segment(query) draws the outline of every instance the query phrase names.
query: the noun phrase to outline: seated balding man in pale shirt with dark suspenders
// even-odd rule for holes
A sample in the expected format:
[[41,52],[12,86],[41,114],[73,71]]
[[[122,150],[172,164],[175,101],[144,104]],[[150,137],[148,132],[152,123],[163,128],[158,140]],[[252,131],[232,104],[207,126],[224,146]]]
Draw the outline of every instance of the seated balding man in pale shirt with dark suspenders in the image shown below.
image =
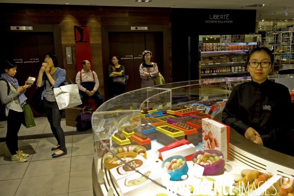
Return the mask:
[[83,69],[75,76],[79,95],[83,103],[87,98],[93,98],[98,108],[103,103],[103,98],[97,91],[99,87],[97,74],[94,71],[91,71],[91,64],[88,60],[84,60],[82,65]]

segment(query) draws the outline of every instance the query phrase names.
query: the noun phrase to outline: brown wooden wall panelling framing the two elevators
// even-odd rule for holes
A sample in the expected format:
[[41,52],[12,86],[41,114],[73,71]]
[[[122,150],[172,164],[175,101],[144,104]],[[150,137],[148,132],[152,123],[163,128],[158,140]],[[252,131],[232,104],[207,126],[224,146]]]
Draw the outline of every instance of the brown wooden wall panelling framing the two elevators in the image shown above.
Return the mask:
[[[73,25],[89,25],[92,55],[92,68],[98,74],[99,93],[104,98],[104,76],[102,65],[101,25],[169,25],[171,58],[171,9],[154,7],[113,7],[80,5],[46,5],[1,3],[1,24],[60,25],[64,68],[72,80],[75,80],[76,61]],[[72,47],[73,64],[67,65],[65,47]],[[172,82],[172,62],[169,73],[165,73],[166,82]]]

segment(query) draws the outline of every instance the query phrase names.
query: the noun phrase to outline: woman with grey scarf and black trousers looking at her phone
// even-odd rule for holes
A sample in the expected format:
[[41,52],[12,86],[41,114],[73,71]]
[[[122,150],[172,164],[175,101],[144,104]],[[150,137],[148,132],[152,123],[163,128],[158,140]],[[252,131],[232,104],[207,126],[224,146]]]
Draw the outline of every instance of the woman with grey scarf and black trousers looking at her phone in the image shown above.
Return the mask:
[[17,64],[13,60],[5,60],[1,63],[0,77],[0,98],[5,104],[5,115],[7,116],[6,145],[11,154],[11,162],[26,162],[29,154],[18,148],[18,132],[22,123],[25,124],[23,106],[26,104],[25,90],[30,87],[30,83],[25,82],[25,86],[19,86],[15,78]]

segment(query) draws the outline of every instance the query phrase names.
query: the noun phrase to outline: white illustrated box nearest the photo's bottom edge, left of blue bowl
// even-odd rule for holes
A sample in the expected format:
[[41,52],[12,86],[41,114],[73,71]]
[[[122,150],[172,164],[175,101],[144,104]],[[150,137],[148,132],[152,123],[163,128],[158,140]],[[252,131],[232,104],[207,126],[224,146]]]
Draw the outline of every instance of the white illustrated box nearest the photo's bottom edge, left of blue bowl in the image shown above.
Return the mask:
[[[161,169],[161,168],[160,168]],[[152,180],[162,184],[161,172],[154,168],[148,167],[140,170]],[[125,178],[118,180],[118,185],[123,195],[125,196],[145,196],[148,193],[149,196],[160,193],[161,186],[153,183],[151,180],[141,175],[140,173],[133,173]]]

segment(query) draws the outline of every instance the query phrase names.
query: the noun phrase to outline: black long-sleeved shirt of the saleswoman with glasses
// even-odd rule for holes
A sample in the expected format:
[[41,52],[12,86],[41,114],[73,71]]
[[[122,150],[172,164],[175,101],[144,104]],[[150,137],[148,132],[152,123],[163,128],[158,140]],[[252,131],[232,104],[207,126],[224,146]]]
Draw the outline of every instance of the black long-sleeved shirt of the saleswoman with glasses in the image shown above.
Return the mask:
[[[270,110],[264,106],[270,106]],[[289,132],[293,120],[288,88],[268,79],[261,84],[250,81],[235,86],[222,112],[222,123],[243,136],[252,127],[260,134],[265,147],[283,153],[287,153],[283,149],[285,143],[292,146]]]

